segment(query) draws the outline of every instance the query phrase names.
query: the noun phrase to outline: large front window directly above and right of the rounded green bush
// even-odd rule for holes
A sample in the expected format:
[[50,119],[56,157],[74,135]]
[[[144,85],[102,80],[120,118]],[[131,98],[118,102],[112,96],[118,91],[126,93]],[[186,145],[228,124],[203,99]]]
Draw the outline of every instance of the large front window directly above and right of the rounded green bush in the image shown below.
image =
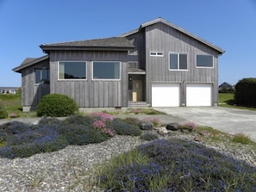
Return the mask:
[[86,62],[59,62],[59,79],[86,79]]

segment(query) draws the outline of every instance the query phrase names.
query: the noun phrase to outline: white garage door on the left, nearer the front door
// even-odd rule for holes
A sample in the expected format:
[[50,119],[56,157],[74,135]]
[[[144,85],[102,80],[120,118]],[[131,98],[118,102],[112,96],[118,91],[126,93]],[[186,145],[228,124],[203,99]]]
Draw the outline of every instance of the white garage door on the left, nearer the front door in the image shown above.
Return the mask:
[[179,84],[152,84],[152,107],[178,107]]

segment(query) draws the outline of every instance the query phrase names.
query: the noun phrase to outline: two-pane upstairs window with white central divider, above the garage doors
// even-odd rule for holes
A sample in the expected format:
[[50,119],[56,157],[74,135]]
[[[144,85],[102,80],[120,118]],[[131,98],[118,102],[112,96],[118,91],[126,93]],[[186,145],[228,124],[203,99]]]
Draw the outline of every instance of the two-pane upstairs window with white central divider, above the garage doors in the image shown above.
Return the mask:
[[170,53],[170,70],[187,70],[187,54]]

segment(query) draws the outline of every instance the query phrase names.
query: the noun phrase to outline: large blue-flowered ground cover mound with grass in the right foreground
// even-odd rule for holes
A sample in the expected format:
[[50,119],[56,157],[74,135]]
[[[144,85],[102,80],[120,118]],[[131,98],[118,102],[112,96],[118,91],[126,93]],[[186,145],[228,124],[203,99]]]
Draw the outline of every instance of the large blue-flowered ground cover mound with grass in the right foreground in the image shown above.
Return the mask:
[[184,139],[157,139],[97,170],[109,191],[255,191],[256,168]]

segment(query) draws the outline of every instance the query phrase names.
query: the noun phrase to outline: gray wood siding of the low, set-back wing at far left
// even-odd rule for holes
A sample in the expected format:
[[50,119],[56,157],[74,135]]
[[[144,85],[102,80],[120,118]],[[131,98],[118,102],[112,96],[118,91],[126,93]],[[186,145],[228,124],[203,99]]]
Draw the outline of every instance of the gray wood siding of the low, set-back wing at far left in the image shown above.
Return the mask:
[[34,69],[49,68],[49,59],[22,70],[22,106],[35,108],[50,93],[49,84],[35,84]]

